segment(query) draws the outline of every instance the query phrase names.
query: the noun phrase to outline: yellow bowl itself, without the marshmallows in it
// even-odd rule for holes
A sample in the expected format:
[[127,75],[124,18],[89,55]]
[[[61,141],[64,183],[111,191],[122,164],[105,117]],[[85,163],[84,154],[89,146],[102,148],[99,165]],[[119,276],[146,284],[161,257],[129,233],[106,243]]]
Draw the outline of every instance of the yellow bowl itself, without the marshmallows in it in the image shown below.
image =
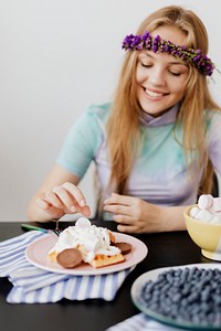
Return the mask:
[[192,218],[189,212],[193,206],[196,205],[190,205],[185,210],[185,222],[190,237],[201,248],[203,256],[221,260],[221,224]]

